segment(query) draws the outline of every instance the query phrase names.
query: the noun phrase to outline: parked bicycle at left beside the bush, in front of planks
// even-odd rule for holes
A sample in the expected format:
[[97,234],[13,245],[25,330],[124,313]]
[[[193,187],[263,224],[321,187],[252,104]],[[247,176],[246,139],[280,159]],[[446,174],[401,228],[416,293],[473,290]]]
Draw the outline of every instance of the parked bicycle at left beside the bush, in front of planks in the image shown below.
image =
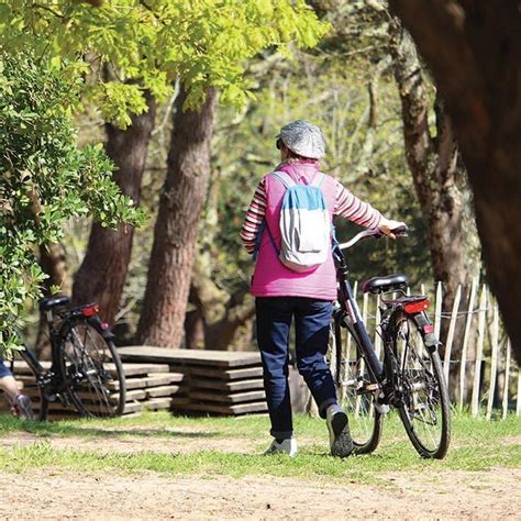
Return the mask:
[[51,340],[51,368],[46,369],[25,345],[20,356],[33,372],[40,393],[38,419],[45,421],[49,403],[74,406],[89,418],[115,417],[125,404],[125,377],[113,335],[95,303],[67,309],[68,297],[40,301]]

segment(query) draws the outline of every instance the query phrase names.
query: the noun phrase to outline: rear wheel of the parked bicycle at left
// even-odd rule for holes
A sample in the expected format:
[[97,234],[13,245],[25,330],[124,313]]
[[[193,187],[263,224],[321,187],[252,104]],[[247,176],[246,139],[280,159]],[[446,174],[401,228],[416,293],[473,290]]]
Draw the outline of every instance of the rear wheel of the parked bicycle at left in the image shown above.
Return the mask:
[[92,418],[121,414],[125,379],[113,342],[84,319],[70,321],[62,337],[62,370],[78,412]]

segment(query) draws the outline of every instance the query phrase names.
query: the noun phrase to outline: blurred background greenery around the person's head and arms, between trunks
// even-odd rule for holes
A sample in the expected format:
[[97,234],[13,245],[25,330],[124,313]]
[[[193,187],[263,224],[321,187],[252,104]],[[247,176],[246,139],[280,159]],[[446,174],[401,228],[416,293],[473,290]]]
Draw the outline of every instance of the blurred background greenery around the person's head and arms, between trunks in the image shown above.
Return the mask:
[[[328,48],[325,40],[318,49]],[[259,63],[259,67],[268,67]],[[213,278],[233,292],[247,285],[253,267],[237,233],[256,184],[279,162],[275,134],[288,121],[308,119],[326,138],[323,171],[333,175],[386,217],[402,220],[410,237],[366,241],[348,253],[353,280],[375,275],[407,274],[413,284],[430,278],[425,224],[402,148],[400,101],[392,78],[377,78],[376,126],[369,126],[367,85],[376,64],[333,59],[330,54],[296,53],[291,63],[263,69],[253,102],[244,118],[222,110],[214,132],[214,164],[220,171],[219,228]],[[220,130],[222,129],[222,130]],[[359,226],[335,220],[337,236],[354,235]],[[201,237],[207,225],[201,229]]]

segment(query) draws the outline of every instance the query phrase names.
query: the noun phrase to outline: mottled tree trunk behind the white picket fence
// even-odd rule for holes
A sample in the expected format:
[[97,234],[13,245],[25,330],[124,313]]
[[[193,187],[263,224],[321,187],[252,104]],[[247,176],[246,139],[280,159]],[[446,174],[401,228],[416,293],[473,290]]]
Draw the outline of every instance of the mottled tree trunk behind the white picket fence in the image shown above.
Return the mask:
[[[440,98],[435,101],[436,135],[429,129],[429,100],[422,79],[422,67],[414,43],[398,23],[392,23],[391,54],[395,79],[399,89],[406,158],[414,181],[421,208],[428,221],[432,270],[443,285],[442,308],[451,310],[458,285],[462,285],[462,310],[466,304],[465,290],[478,274],[476,253],[470,252],[468,215],[465,213],[465,171],[458,162],[457,143],[450,117]],[[447,335],[448,323],[442,322],[441,339]],[[458,324],[454,340],[457,358],[463,343],[464,323]],[[453,373],[455,374],[455,373]]]

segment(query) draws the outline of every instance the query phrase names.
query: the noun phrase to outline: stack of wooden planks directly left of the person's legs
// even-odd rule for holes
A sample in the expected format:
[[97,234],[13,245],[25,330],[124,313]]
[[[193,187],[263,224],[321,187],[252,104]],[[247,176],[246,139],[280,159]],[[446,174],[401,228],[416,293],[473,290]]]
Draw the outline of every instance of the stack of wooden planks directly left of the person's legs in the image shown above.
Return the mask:
[[267,410],[258,353],[148,346],[123,347],[119,352],[125,363],[168,364],[170,372],[185,375],[186,393],[174,397],[174,411],[239,415]]

